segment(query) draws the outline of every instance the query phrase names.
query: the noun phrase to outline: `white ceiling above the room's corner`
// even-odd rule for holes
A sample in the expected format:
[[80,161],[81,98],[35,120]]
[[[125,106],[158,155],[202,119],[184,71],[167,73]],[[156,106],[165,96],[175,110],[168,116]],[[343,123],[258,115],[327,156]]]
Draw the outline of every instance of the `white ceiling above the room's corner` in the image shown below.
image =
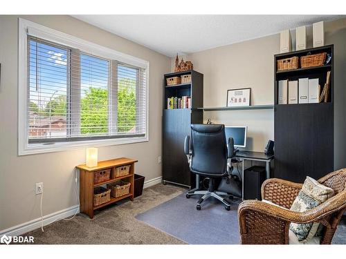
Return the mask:
[[104,30],[173,57],[281,30],[340,19],[343,15],[73,15]]

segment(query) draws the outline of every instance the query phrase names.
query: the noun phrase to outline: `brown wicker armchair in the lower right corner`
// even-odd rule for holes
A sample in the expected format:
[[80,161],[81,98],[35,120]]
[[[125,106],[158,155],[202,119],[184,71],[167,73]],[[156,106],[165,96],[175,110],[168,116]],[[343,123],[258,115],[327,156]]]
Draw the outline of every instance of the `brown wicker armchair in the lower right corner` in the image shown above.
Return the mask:
[[324,226],[320,244],[330,244],[346,209],[346,169],[329,173],[318,180],[334,189],[335,196],[305,212],[289,211],[302,184],[271,178],[262,184],[262,198],[239,204],[238,218],[242,244],[288,244],[289,224],[320,222]]

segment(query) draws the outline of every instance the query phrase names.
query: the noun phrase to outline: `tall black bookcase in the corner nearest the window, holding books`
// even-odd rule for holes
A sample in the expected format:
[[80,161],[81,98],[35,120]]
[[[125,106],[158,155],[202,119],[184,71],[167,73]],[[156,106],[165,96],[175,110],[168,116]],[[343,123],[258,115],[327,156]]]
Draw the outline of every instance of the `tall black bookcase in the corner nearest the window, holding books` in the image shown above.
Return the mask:
[[[191,75],[191,82],[167,86],[167,78]],[[163,78],[163,184],[172,183],[193,188],[194,175],[190,173],[183,144],[190,135],[191,124],[203,123],[203,74],[194,70],[165,74]],[[167,109],[169,97],[191,97],[191,108]]]

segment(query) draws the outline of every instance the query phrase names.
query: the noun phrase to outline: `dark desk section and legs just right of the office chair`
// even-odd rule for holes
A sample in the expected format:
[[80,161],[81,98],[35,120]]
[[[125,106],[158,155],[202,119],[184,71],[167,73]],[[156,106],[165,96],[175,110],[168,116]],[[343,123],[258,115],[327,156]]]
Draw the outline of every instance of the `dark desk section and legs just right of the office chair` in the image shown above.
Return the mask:
[[274,155],[266,155],[264,152],[238,151],[235,156],[242,160],[242,198],[244,198],[244,161],[261,161],[266,163],[266,179],[271,178],[271,160]]

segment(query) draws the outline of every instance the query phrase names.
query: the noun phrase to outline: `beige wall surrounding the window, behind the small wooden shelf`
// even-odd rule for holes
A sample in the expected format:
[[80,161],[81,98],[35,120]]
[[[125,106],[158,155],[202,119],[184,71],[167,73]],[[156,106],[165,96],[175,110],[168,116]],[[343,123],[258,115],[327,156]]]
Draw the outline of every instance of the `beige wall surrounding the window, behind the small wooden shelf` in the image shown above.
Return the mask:
[[[161,114],[163,74],[170,59],[69,16],[22,17],[120,52],[149,61],[149,142],[99,148],[99,159],[134,157],[145,180],[161,176]],[[85,162],[84,149],[17,155],[18,17],[0,16],[0,231],[39,217],[35,182],[44,182],[43,213],[78,204],[73,168]]]

